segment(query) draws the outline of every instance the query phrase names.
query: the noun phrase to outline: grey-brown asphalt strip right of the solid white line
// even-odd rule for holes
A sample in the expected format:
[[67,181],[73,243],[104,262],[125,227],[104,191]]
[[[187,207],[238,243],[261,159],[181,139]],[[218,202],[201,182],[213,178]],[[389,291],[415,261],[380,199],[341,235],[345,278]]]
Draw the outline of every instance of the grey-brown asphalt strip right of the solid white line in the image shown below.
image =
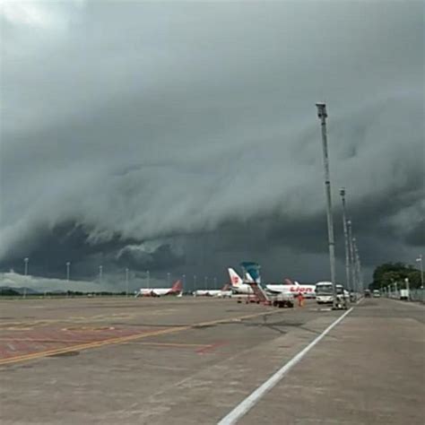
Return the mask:
[[425,423],[425,308],[364,299],[239,422]]

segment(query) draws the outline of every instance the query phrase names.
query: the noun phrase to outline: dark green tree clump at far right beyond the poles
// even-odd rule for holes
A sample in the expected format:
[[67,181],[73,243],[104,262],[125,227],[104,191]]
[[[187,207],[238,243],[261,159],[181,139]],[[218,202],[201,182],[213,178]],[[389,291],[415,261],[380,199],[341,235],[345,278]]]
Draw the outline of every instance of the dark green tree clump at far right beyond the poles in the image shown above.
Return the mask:
[[403,288],[404,279],[409,279],[411,289],[421,288],[421,271],[412,265],[404,263],[385,263],[378,265],[373,273],[373,282],[369,284],[370,290],[379,290],[389,284],[397,282],[399,288]]

